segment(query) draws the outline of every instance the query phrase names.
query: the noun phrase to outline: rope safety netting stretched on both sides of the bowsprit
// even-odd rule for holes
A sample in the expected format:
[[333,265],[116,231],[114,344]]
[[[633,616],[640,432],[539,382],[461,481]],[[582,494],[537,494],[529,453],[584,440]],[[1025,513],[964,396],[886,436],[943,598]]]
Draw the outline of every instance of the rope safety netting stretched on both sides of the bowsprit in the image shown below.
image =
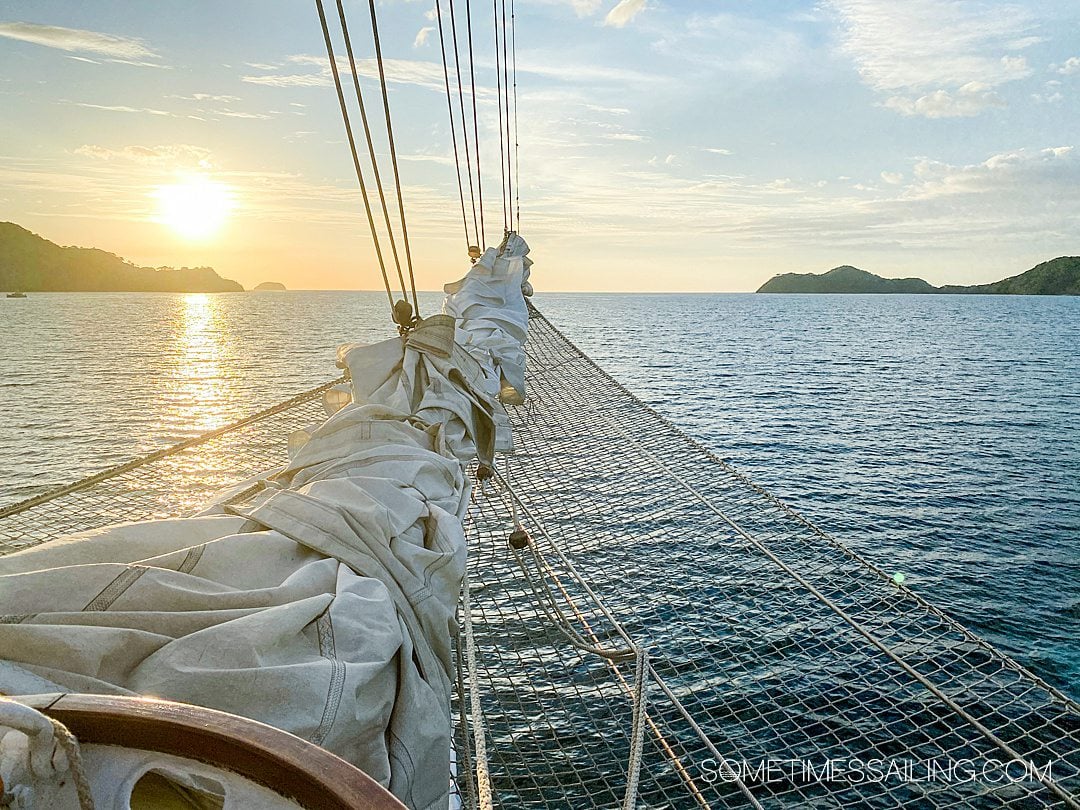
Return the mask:
[[[536,310],[529,326],[516,451],[467,524],[467,806],[474,696],[495,806],[623,805],[642,659],[588,645],[648,652],[639,807],[1080,808],[1080,705],[694,443]],[[325,388],[0,510],[0,551],[190,513],[284,461]]]

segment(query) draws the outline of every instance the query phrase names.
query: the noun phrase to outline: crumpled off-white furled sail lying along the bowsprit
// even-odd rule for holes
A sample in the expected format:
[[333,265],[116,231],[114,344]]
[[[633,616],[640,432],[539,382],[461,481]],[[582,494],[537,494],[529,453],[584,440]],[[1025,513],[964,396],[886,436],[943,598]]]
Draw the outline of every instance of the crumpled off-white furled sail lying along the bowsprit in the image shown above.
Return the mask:
[[500,392],[524,395],[527,252],[511,234],[448,285],[447,314],[342,347],[348,400],[330,389],[245,507],[0,558],[0,693],[230,712],[445,808],[465,469],[507,446]]

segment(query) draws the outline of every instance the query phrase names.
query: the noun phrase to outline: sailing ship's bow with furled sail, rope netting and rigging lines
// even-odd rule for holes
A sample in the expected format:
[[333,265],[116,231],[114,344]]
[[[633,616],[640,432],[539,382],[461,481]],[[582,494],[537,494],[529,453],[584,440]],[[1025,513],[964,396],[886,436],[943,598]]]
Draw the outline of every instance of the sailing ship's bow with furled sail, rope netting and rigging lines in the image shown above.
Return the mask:
[[422,313],[395,187],[396,335],[0,508],[6,804],[1080,807],[1080,706],[598,368],[512,206]]

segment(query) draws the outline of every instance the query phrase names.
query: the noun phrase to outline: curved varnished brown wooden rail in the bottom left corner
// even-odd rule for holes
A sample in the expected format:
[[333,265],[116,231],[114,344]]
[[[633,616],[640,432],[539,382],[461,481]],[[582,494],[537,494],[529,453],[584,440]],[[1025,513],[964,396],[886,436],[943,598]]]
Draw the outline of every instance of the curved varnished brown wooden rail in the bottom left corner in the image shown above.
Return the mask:
[[18,700],[63,723],[80,742],[194,759],[238,773],[310,810],[405,807],[340,757],[246,717],[187,703],[104,694]]

